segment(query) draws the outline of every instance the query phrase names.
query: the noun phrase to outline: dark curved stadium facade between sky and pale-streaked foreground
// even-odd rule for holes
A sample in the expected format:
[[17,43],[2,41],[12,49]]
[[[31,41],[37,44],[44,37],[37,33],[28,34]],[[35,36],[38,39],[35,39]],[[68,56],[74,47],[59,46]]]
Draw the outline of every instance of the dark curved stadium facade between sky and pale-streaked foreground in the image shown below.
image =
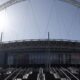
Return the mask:
[[0,65],[80,64],[80,42],[23,40],[0,44]]

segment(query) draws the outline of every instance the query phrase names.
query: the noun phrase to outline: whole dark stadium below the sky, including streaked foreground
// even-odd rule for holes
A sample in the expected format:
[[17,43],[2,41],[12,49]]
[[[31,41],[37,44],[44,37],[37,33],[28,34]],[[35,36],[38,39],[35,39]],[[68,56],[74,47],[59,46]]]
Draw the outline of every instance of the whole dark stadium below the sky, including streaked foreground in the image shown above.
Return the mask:
[[32,39],[0,44],[1,80],[79,80],[80,42]]

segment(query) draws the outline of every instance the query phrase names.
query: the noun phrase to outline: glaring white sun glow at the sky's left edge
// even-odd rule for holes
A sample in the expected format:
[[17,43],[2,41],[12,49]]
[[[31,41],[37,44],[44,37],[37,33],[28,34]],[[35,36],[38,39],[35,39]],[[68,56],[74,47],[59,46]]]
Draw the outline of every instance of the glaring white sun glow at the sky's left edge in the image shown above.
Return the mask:
[[0,33],[4,32],[4,30],[7,28],[8,26],[8,16],[6,14],[5,11],[1,11],[0,12]]

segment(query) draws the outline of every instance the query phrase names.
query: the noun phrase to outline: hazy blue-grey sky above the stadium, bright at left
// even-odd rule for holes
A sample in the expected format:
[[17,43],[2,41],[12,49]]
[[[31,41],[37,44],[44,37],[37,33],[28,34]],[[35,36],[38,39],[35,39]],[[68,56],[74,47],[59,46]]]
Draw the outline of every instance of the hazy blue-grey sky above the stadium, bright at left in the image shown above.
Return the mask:
[[[8,0],[0,0],[0,4]],[[80,40],[80,8],[60,0],[26,0],[0,11],[3,41]]]

